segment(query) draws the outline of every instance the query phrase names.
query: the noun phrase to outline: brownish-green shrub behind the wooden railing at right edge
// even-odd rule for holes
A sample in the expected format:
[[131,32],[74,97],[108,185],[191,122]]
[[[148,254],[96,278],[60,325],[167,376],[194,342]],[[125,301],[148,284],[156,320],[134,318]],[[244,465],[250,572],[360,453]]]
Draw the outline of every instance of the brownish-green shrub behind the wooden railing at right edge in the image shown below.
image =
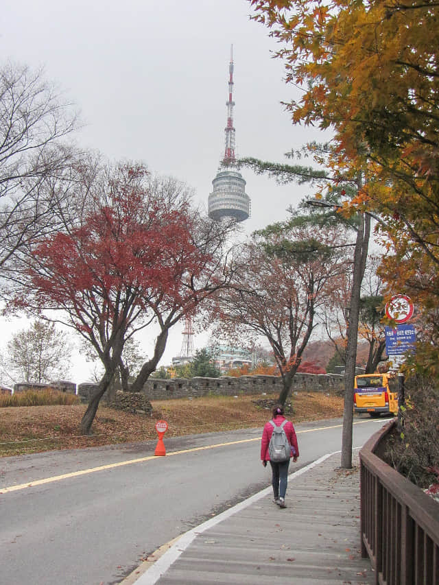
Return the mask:
[[413,377],[405,386],[401,433],[390,439],[386,459],[416,486],[435,481],[439,466],[439,387],[433,379]]

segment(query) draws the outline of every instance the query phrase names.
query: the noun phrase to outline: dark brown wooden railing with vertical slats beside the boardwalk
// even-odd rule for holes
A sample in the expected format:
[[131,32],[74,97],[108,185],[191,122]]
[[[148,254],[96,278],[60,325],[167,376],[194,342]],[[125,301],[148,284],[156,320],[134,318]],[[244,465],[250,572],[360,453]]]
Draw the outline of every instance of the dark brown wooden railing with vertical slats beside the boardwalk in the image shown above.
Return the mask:
[[361,556],[379,585],[439,585],[439,505],[375,455],[393,420],[361,449]]

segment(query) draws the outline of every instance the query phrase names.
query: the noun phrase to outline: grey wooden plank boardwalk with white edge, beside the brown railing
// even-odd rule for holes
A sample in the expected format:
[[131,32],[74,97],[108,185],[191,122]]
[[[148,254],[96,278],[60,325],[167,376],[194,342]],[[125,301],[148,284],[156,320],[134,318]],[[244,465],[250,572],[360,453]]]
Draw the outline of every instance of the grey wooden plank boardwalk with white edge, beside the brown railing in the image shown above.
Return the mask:
[[123,585],[372,585],[357,452],[353,470],[339,465],[340,453],[320,457],[289,475],[287,508],[266,488],[161,547]]

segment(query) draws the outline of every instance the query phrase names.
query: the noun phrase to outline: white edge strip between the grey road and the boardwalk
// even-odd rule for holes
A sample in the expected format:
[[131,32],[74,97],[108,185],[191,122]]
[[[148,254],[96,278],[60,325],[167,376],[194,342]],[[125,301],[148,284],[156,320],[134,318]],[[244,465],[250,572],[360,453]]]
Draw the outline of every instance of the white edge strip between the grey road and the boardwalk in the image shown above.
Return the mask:
[[[361,447],[353,447],[353,450],[355,449],[361,449]],[[313,461],[309,465],[302,467],[301,469],[290,474],[288,476],[288,481],[290,479],[298,477],[299,475],[307,473],[307,471],[309,471],[313,467],[316,467],[320,463],[323,463],[332,455],[337,455],[338,453],[341,452],[342,451],[333,451],[333,453],[327,453],[326,455],[322,455],[322,457],[319,457],[318,459],[316,459],[316,461]],[[243,502],[237,503],[236,505],[233,506],[233,508],[224,510],[224,512],[218,514],[217,516],[215,516],[215,518],[211,518],[210,520],[207,520],[206,522],[200,524],[199,526],[192,528],[188,532],[185,532],[185,534],[182,534],[182,536],[180,536],[180,538],[178,538],[178,540],[174,542],[174,544],[161,556],[161,558],[156,560],[156,562],[154,562],[154,564],[150,566],[150,568],[147,569],[145,573],[143,573],[143,575],[141,575],[139,579],[137,579],[134,582],[135,585],[154,585],[156,582],[158,582],[160,577],[162,577],[163,574],[169,569],[171,564],[173,564],[178,559],[181,553],[184,552],[187,549],[187,547],[189,547],[195,536],[202,534],[209,528],[217,525],[223,520],[226,520],[226,518],[230,518],[230,516],[233,516],[233,514],[241,512],[241,510],[245,510],[252,503],[257,502],[261,498],[270,494],[271,491],[272,486],[268,486],[268,488],[265,488],[261,490],[261,492],[258,492],[257,494],[250,496],[250,498],[244,500]]]

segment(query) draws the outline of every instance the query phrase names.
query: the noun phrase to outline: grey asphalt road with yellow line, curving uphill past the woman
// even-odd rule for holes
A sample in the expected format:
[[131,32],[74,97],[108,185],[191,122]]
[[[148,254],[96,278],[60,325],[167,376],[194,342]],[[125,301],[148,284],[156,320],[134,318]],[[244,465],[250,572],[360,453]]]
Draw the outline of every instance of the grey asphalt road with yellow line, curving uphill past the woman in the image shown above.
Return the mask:
[[[357,446],[383,424],[356,422]],[[297,425],[300,464],[340,449],[340,425]],[[165,438],[166,457],[154,457],[150,442],[1,459],[1,581],[121,582],[164,542],[268,485],[260,435],[246,429]]]

